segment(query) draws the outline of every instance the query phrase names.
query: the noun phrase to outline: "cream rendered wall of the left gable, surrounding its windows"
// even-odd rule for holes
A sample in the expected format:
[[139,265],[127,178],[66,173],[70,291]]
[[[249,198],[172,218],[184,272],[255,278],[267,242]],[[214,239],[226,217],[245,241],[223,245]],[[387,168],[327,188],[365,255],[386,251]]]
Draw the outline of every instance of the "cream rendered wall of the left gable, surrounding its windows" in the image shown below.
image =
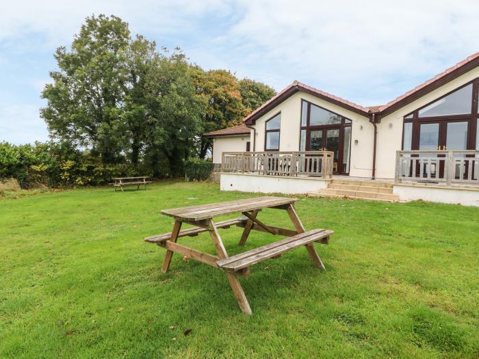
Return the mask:
[[[372,175],[372,144],[374,131],[372,124],[366,116],[361,116],[343,107],[324,101],[321,98],[296,92],[274,109],[268,111],[256,120],[255,150],[261,152],[265,148],[266,121],[281,112],[281,131],[279,134],[279,150],[298,151],[300,144],[301,129],[301,100],[309,101],[315,105],[324,107],[352,121],[351,135],[351,166],[350,176],[370,177]],[[357,141],[357,144],[356,144]],[[253,131],[251,133],[251,146],[253,146]],[[253,147],[252,147],[253,148]],[[394,172],[393,172],[394,175]]]

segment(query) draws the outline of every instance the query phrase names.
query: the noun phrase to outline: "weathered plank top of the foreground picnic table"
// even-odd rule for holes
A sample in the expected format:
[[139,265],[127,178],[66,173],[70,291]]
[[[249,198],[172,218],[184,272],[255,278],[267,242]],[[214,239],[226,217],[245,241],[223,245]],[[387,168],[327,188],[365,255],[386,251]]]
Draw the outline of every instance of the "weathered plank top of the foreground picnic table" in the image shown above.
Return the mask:
[[228,202],[201,204],[199,206],[164,209],[161,213],[178,220],[200,221],[218,217],[219,215],[230,215],[238,212],[253,211],[254,209],[281,206],[283,204],[296,202],[297,200],[298,198],[263,196]]

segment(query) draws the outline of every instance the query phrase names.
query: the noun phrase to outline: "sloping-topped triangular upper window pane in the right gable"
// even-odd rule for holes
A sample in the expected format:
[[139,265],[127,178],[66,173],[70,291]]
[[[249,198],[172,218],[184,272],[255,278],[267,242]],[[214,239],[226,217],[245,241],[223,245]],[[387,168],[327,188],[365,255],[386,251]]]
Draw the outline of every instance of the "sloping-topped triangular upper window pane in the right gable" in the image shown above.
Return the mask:
[[419,110],[419,117],[463,115],[471,113],[472,83]]

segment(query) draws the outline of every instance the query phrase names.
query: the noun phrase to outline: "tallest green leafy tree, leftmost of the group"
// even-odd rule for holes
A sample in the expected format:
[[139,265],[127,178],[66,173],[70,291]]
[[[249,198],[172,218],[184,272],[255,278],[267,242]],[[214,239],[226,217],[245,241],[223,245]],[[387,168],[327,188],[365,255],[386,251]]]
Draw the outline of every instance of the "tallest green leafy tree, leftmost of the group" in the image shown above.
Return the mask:
[[92,146],[103,163],[115,163],[125,148],[121,107],[127,91],[128,24],[116,16],[86,18],[71,45],[57,49],[60,70],[50,72],[40,110],[51,137]]

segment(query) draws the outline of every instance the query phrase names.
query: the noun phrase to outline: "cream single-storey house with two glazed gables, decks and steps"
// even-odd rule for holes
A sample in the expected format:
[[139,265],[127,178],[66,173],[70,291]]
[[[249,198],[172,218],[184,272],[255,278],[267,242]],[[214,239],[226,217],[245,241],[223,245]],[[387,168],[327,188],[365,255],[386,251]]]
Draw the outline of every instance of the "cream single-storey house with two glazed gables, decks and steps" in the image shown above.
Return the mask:
[[222,189],[479,206],[478,99],[476,53],[374,107],[294,81],[244,118],[241,140],[207,135]]

